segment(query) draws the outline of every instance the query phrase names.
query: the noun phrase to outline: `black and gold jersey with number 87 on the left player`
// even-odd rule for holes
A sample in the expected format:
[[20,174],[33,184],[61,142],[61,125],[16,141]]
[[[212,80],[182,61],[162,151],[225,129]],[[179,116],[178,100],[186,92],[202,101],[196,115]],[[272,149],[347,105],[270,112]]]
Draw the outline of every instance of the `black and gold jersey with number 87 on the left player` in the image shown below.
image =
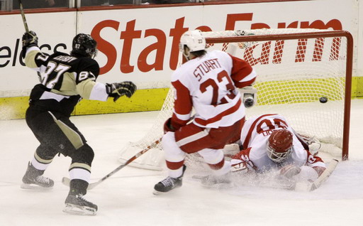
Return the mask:
[[28,48],[26,66],[38,71],[40,83],[30,93],[30,105],[69,116],[80,99],[106,101],[103,84],[96,82],[96,60],[67,53],[45,54],[38,47]]

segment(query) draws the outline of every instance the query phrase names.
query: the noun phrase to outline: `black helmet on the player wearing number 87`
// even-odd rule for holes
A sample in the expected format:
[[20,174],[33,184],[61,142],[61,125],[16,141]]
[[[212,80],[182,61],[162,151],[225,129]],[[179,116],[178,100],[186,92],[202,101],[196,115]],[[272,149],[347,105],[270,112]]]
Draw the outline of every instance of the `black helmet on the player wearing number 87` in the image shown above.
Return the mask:
[[79,33],[73,38],[71,55],[94,58],[97,55],[97,42],[90,35]]

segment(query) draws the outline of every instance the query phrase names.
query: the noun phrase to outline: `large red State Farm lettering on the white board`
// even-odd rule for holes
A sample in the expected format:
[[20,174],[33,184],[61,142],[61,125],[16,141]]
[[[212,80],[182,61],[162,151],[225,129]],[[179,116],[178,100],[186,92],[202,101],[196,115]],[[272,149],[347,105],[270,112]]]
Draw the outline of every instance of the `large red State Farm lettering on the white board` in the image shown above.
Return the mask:
[[[253,14],[245,13],[245,14],[227,14],[225,21],[225,30],[236,30],[236,23],[238,21],[251,21],[250,29],[259,29],[259,28],[274,28],[271,24],[267,23],[252,23]],[[116,59],[118,58],[118,54],[121,54],[120,61],[120,71],[127,74],[135,71],[135,65],[138,70],[141,72],[149,72],[151,70],[164,70],[164,60],[169,58],[169,68],[171,70],[175,70],[178,66],[179,59],[179,39],[181,35],[188,31],[189,28],[184,26],[185,17],[177,18],[174,23],[174,28],[170,28],[169,34],[167,31],[163,31],[157,28],[150,28],[145,30],[145,34],[143,36],[143,32],[141,30],[136,30],[135,25],[137,23],[136,20],[127,21],[125,31],[119,31],[120,23],[119,21],[113,20],[105,20],[97,23],[91,31],[91,36],[98,43],[98,48],[101,53],[106,55],[106,64],[102,66],[100,70],[100,75],[105,74],[112,70],[116,64]],[[101,31],[104,28],[113,28],[117,33],[115,36],[119,34],[119,38],[123,41],[122,48],[118,46],[118,43],[111,43],[106,41],[104,37],[101,37]],[[327,29],[333,28],[333,30],[342,30],[342,23],[337,19],[332,19],[327,23],[323,21],[293,21],[291,23],[279,22],[277,23],[277,28],[319,28],[319,29]],[[201,31],[212,31],[212,29],[208,26],[198,26],[196,29],[200,29]],[[142,37],[143,36],[143,37]],[[155,40],[154,43],[149,44],[142,48],[140,53],[135,53],[135,48],[133,48],[133,41],[135,39],[143,39],[145,40]],[[166,57],[166,50],[168,43],[171,46],[169,56]],[[306,40],[301,39],[298,41],[299,45],[296,48],[296,62],[302,62],[306,57]],[[336,50],[340,48],[341,40],[340,38],[335,38],[333,40],[333,44],[330,50],[330,60],[337,60],[339,57],[339,52]],[[324,46],[324,39],[320,38],[315,41],[315,49],[313,53],[313,61],[320,61],[322,58],[321,49]],[[284,52],[284,41],[276,41],[274,46],[272,46],[272,42],[262,43],[262,48],[264,48],[263,53],[260,55],[255,55],[254,50],[256,46],[251,46],[246,48],[245,50],[245,58],[250,57],[250,63],[255,65],[257,63],[268,64],[268,63],[281,63],[282,55]],[[333,51],[335,48],[335,51]],[[130,62],[130,55],[136,55],[137,62]],[[270,55],[270,53],[272,53]],[[269,60],[272,58],[272,60]],[[133,58],[134,59],[134,58]],[[270,62],[271,61],[271,62]]]

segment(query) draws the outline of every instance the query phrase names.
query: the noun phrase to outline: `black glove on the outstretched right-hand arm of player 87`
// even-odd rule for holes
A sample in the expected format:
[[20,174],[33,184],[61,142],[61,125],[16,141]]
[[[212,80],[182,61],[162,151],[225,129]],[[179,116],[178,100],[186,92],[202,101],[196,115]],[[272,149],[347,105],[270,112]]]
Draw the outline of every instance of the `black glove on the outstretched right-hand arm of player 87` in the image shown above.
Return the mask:
[[111,84],[106,83],[106,92],[108,97],[113,97],[114,102],[116,102],[116,100],[123,95],[126,95],[126,97],[130,98],[136,90],[136,85],[130,81],[115,82]]

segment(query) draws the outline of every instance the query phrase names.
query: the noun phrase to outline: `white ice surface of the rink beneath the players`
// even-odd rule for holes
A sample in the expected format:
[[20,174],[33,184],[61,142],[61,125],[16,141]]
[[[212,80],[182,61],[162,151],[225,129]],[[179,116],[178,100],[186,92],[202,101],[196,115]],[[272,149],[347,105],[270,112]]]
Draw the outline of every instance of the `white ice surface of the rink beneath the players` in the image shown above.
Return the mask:
[[[138,141],[158,112],[72,117],[94,149],[91,182],[120,166],[118,154]],[[313,192],[272,188],[204,188],[186,171],[183,186],[153,195],[164,171],[125,167],[84,196],[98,205],[95,216],[62,212],[70,158],[56,156],[45,176],[52,190],[23,190],[21,178],[38,141],[25,120],[0,121],[0,225],[363,225],[363,99],[352,99],[350,160],[340,161]],[[324,159],[324,158],[323,158]]]

